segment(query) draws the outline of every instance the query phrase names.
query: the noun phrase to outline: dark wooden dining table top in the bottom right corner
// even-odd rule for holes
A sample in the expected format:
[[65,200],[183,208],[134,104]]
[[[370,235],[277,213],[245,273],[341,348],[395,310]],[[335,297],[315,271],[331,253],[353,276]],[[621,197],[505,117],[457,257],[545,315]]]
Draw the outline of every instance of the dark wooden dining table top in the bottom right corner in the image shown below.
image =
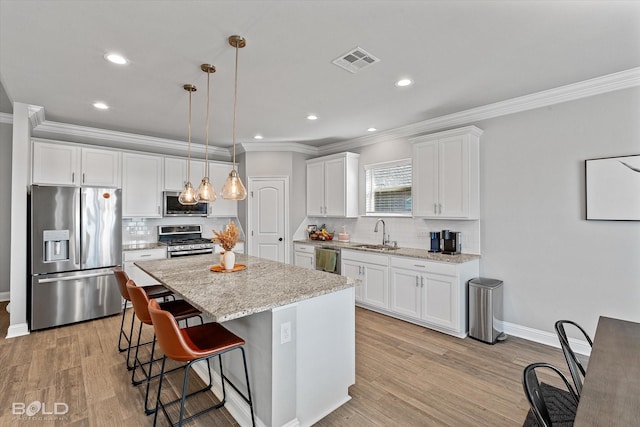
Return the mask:
[[640,425],[640,323],[601,316],[575,427]]

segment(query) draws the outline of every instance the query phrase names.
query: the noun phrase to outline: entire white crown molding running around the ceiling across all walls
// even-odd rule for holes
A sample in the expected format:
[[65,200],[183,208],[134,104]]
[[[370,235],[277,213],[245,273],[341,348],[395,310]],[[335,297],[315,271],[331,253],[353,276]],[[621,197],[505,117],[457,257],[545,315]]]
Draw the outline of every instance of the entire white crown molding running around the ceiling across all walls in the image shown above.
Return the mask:
[[[560,86],[530,95],[524,95],[506,101],[471,108],[399,128],[377,132],[373,135],[366,135],[359,138],[328,144],[322,147],[313,147],[297,142],[246,142],[238,145],[240,146],[240,152],[293,151],[313,156],[321,156],[340,151],[349,151],[382,141],[414,137],[431,132],[446,130],[447,128],[469,125],[482,120],[520,113],[563,102],[575,101],[635,86],[640,86],[640,67]],[[186,153],[187,151],[187,143],[185,141],[45,121],[43,107],[30,105],[29,119],[34,129],[34,136],[40,136],[42,138],[56,137],[65,140],[71,139],[76,142],[87,142],[87,140],[93,140],[94,143],[104,143],[107,146],[116,145],[132,150],[151,152]],[[0,122],[12,123],[13,116],[11,114],[0,113]],[[196,154],[204,154],[205,147],[202,144],[192,144],[191,151]],[[209,153],[215,157],[231,159],[231,147],[221,148],[209,146]]]

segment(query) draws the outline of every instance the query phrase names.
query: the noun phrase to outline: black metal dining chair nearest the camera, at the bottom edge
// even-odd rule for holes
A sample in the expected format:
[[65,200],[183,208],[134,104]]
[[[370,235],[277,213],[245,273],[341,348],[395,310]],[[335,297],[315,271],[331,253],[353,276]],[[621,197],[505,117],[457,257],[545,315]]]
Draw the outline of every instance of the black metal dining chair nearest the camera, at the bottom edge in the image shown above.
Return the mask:
[[[545,369],[560,377],[566,390],[541,383],[536,370]],[[524,368],[522,387],[531,405],[524,426],[564,427],[573,425],[578,409],[578,395],[558,368],[548,363],[532,363]]]

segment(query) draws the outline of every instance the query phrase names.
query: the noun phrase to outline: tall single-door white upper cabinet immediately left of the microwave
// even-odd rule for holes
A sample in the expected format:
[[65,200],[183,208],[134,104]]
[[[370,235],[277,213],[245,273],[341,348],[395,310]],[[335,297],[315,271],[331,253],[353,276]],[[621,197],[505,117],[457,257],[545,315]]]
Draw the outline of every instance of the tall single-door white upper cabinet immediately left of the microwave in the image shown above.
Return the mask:
[[122,155],[122,216],[162,217],[163,157],[148,154]]

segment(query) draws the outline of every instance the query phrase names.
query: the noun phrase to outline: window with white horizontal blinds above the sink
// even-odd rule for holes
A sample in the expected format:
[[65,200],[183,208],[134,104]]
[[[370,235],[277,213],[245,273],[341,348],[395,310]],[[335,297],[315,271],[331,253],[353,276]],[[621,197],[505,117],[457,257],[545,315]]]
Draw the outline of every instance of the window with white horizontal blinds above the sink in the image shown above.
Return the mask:
[[411,159],[364,167],[366,213],[411,215]]

